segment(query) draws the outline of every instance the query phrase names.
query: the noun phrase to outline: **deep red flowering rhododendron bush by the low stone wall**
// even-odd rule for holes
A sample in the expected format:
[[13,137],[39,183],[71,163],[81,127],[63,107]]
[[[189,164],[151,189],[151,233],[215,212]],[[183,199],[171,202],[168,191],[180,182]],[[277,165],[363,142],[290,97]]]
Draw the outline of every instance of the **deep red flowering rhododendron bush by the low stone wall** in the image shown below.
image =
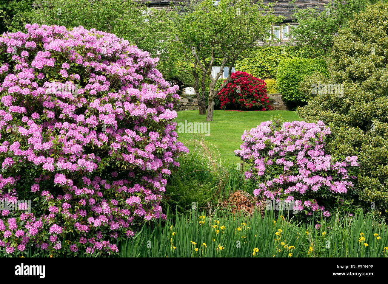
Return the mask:
[[217,95],[222,109],[272,110],[264,80],[246,72],[232,73],[230,82]]

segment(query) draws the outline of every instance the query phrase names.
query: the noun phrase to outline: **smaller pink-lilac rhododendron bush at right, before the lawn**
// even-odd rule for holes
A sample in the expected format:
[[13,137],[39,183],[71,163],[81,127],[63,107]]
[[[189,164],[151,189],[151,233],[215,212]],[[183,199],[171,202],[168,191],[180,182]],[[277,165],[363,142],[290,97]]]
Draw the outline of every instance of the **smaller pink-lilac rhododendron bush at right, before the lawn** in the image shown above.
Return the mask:
[[266,121],[244,131],[244,143],[234,152],[249,164],[244,175],[256,182],[258,205],[292,211],[302,219],[346,210],[355,194],[357,156],[341,160],[325,154],[329,134],[322,121]]

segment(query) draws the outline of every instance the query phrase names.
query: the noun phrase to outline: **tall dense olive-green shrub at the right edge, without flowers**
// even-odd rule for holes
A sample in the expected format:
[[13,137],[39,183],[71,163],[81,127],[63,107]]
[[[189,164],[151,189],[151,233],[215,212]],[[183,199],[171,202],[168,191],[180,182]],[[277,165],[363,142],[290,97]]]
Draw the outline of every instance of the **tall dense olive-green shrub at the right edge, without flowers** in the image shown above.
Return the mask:
[[[357,155],[355,184],[360,205],[388,216],[388,4],[376,3],[355,15],[334,37],[330,78],[310,76],[302,87],[310,93],[298,110],[308,121],[329,124],[331,155]],[[338,86],[342,91],[317,91],[312,86]],[[338,90],[338,88],[337,88]],[[356,203],[355,203],[356,204]]]

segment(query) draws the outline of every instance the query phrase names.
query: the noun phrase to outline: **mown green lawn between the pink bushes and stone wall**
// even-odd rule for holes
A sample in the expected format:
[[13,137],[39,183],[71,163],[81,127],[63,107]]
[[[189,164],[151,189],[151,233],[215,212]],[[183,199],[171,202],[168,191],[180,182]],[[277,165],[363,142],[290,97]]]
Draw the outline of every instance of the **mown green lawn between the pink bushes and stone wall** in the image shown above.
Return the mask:
[[[196,140],[205,138],[207,146],[212,145],[218,149],[221,160],[237,162],[239,159],[233,151],[240,148],[241,135],[244,130],[250,130],[263,121],[270,120],[272,115],[281,114],[288,121],[300,120],[296,112],[288,110],[268,110],[263,112],[234,112],[228,110],[215,110],[213,121],[210,122],[209,136],[203,133],[178,133],[179,141],[182,141],[190,151],[194,150]],[[206,122],[206,115],[199,115],[198,110],[186,110],[178,112],[176,121],[185,123]],[[178,125],[179,126],[179,125]],[[189,129],[189,128],[188,128]],[[179,130],[179,127],[178,127]],[[212,147],[214,149],[214,147]],[[215,150],[217,152],[217,150]],[[218,153],[217,153],[218,155]]]

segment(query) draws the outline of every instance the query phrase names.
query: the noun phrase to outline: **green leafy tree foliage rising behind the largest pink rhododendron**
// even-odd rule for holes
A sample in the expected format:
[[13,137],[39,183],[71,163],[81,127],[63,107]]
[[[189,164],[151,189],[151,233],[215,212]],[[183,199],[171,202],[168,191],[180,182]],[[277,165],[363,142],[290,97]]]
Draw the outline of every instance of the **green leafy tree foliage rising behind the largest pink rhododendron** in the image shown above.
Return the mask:
[[161,61],[171,57],[167,47],[173,36],[166,28],[168,14],[148,8],[145,1],[37,0],[34,5],[35,9],[14,17],[12,31],[22,29],[26,23],[83,26],[114,33]]

